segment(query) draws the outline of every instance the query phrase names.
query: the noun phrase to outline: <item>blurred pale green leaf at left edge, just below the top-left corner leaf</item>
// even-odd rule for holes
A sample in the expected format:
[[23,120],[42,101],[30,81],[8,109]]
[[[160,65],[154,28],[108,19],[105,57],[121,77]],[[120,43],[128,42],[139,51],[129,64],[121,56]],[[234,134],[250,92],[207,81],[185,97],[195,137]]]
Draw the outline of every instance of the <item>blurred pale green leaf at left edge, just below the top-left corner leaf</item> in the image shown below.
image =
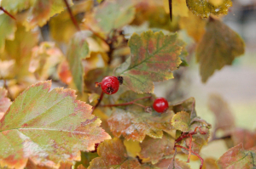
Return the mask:
[[15,20],[7,14],[0,13],[0,52],[3,52],[5,39],[14,39],[16,29]]

